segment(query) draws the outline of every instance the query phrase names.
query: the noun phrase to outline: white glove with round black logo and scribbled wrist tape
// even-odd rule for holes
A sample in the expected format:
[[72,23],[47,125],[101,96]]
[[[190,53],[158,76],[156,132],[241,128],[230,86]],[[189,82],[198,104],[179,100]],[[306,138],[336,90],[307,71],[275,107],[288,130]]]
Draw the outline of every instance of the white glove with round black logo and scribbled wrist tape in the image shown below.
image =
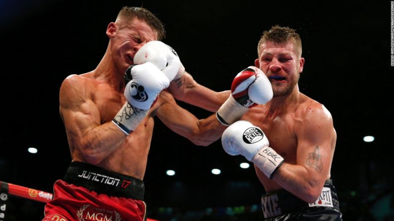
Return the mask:
[[168,88],[170,81],[150,62],[131,65],[126,70],[125,79],[130,80],[124,92],[127,102],[112,122],[124,133],[130,134],[148,114],[159,93]]

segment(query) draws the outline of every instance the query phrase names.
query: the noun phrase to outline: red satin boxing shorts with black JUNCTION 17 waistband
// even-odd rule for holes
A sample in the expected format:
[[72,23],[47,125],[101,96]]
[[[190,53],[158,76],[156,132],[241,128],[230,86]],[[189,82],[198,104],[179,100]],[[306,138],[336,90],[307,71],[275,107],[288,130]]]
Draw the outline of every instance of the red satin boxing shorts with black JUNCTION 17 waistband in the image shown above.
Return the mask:
[[72,162],[54,184],[43,221],[145,221],[142,180]]

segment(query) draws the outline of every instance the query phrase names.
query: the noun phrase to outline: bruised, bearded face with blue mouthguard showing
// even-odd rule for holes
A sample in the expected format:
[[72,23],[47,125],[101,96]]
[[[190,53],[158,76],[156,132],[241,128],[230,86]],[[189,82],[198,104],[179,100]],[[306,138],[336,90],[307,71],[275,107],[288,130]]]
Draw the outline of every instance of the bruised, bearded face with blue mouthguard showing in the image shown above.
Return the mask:
[[298,84],[305,59],[297,53],[292,41],[287,44],[265,42],[261,54],[255,61],[272,85],[273,96],[289,94]]

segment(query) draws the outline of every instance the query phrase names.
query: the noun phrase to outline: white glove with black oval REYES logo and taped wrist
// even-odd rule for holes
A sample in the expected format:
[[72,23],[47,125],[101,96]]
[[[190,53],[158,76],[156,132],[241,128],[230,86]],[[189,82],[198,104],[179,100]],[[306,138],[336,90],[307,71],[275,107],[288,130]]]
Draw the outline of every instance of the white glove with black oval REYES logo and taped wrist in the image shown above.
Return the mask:
[[283,157],[269,147],[263,131],[248,121],[237,121],[228,127],[222,135],[222,146],[232,156],[243,155],[270,179],[284,163]]

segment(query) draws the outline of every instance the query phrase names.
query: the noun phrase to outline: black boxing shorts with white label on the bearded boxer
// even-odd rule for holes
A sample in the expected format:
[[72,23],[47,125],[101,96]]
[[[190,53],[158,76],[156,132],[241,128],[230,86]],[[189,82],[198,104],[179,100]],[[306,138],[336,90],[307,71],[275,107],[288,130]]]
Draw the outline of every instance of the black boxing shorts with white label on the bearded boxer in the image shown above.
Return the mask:
[[338,196],[328,179],[316,202],[307,203],[282,189],[264,194],[262,206],[265,221],[341,221]]

